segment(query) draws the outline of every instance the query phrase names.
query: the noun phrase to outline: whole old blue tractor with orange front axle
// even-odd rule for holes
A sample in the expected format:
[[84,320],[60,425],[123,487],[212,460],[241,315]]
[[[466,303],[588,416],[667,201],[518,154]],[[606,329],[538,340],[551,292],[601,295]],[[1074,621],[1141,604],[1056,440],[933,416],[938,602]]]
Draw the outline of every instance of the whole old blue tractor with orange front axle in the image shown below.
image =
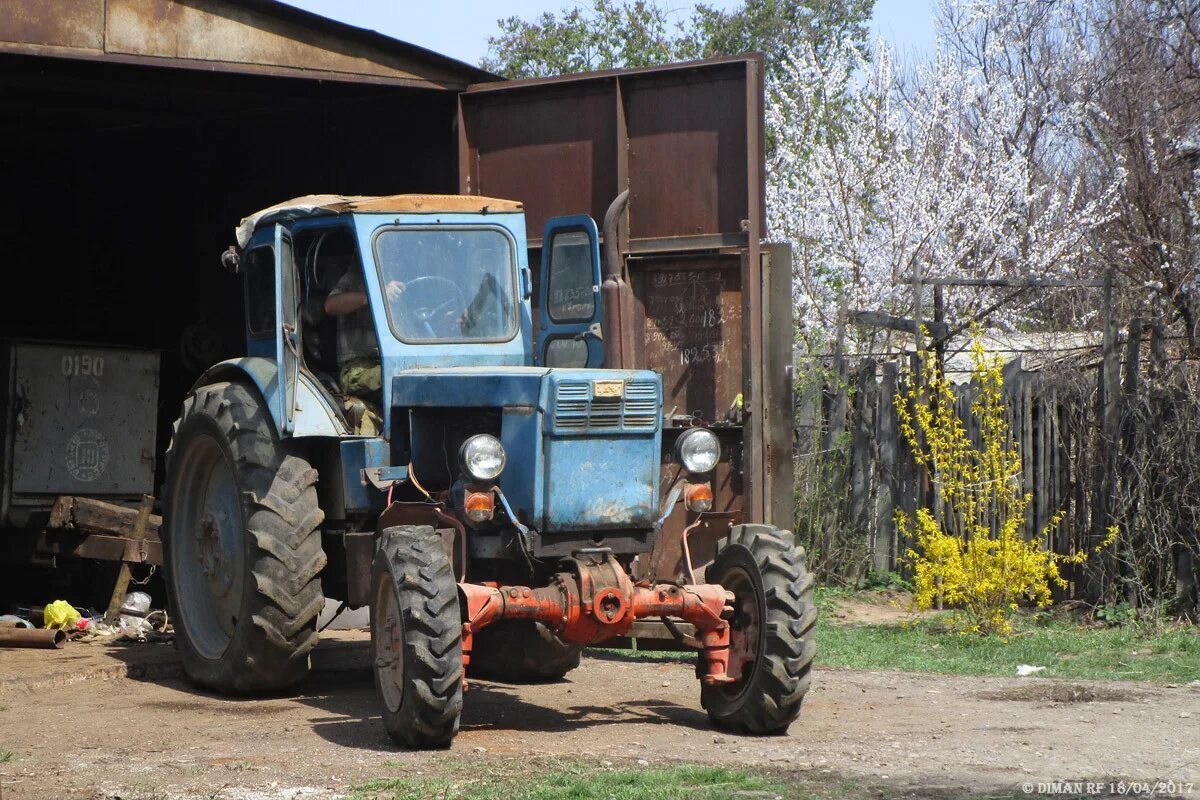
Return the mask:
[[659,372],[605,368],[628,293],[595,222],[551,219],[538,276],[526,241],[520,203],[469,196],[312,196],[242,222],[222,260],[246,356],[199,378],[167,452],[188,676],[282,690],[326,597],[368,604],[388,733],[444,746],[468,674],[558,679],[653,624],[697,650],[716,726],[786,729],[814,655],[803,552],[714,510],[719,425],[680,425]]

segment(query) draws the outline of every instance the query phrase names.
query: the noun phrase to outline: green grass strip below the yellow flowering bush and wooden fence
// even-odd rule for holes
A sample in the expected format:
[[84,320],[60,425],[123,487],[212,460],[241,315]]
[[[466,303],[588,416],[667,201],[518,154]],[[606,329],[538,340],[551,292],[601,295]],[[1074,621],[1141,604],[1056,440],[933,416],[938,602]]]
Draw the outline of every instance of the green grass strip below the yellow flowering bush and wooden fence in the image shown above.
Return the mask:
[[[820,604],[832,606],[838,596]],[[828,619],[828,618],[827,618]],[[1091,627],[1045,614],[1022,616],[1007,640],[961,636],[943,620],[900,625],[826,622],[817,627],[817,663],[956,675],[1015,675],[1018,664],[1045,667],[1045,678],[1187,682],[1200,679],[1195,626]]]

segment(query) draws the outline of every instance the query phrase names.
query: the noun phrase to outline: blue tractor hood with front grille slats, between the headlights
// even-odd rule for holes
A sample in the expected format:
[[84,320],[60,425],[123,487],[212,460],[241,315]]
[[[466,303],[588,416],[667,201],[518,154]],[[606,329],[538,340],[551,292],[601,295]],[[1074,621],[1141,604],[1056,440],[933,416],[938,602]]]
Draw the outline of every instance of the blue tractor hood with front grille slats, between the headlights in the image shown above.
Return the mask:
[[494,408],[509,463],[499,485],[544,534],[648,529],[659,512],[662,381],[635,369],[404,369],[392,407]]

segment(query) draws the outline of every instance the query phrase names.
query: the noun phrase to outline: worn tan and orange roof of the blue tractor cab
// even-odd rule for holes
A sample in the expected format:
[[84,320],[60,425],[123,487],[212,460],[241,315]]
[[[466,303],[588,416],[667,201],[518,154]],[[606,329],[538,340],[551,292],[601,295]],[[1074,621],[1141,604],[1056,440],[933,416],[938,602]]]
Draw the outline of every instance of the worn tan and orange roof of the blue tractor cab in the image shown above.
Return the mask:
[[523,211],[516,200],[476,194],[306,194],[250,215],[236,228],[245,247],[259,225],[337,213],[511,213]]

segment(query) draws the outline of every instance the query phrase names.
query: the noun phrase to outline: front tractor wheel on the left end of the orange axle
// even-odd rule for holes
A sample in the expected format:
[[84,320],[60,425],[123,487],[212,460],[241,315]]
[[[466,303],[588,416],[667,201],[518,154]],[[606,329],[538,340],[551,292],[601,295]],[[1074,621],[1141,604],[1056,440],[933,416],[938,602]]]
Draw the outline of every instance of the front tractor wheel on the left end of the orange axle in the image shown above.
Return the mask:
[[458,584],[428,525],[385,528],[376,551],[371,644],[383,723],[406,747],[446,747],[462,712]]

